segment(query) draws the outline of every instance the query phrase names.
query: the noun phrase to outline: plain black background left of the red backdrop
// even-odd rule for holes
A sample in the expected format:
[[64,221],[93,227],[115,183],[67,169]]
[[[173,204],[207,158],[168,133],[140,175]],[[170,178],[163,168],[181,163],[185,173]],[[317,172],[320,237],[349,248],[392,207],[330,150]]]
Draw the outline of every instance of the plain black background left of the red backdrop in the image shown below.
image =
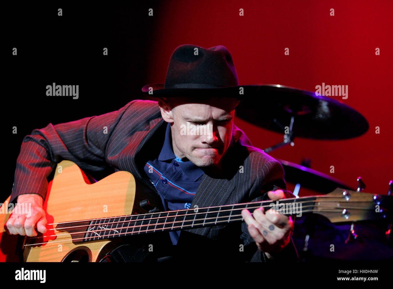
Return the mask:
[[[121,4],[7,4],[2,55],[2,142],[6,169],[1,199],[12,190],[15,162],[24,136],[48,123],[100,115],[145,99],[141,88],[156,23],[155,1]],[[62,8],[62,16],[57,9]],[[13,48],[17,55],[12,55]],[[108,55],[103,55],[108,48]],[[46,96],[46,86],[79,85],[79,98]],[[17,134],[13,134],[13,127]],[[3,159],[4,159],[3,158]]]

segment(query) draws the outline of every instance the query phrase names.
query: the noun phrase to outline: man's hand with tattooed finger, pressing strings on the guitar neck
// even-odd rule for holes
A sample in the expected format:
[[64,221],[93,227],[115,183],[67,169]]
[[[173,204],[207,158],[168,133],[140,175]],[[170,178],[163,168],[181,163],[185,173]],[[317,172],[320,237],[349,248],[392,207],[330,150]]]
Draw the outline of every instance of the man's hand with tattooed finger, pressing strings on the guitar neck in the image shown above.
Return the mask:
[[[272,201],[285,199],[283,190],[268,191],[268,196]],[[244,209],[242,216],[259,250],[268,258],[273,258],[272,255],[281,252],[290,242],[290,234],[294,227],[291,217],[279,214],[273,208],[266,214],[264,208],[258,208],[253,212],[254,217],[250,211]]]

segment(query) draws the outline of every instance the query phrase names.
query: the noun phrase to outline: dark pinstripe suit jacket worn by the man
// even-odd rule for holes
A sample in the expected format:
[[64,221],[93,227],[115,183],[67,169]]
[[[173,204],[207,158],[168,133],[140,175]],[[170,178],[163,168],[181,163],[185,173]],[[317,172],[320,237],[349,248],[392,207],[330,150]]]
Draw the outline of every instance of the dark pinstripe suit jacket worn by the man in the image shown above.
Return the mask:
[[[97,179],[113,171],[129,171],[154,189],[143,167],[148,160],[158,157],[166,124],[156,101],[134,100],[118,111],[57,125],[50,123],[43,129],[35,129],[24,138],[21,145],[11,202],[24,193],[37,193],[45,198],[48,179],[56,164],[63,159],[75,162]],[[105,127],[107,133],[104,133]],[[201,208],[260,201],[268,199],[266,192],[274,189],[274,186],[286,189],[281,164],[252,147],[246,135],[235,125],[224,162],[226,177],[215,179],[205,173],[191,208],[195,205]],[[240,166],[243,166],[242,170]],[[244,243],[246,248],[251,248],[247,250],[252,252],[252,261],[266,261],[248,234],[246,223],[237,223],[239,234],[233,231],[235,227],[231,225],[186,231],[211,240],[232,236],[234,242]],[[226,234],[228,230],[230,235]],[[291,256],[291,260],[296,260],[292,239],[287,248],[281,254],[283,258]]]

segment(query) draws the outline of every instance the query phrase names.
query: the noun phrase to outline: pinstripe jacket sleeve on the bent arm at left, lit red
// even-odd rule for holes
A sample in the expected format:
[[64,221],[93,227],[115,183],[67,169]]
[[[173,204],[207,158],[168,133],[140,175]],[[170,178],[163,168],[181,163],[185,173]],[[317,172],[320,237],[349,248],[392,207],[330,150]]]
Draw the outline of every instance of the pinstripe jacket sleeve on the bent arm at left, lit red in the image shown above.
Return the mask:
[[81,169],[102,172],[108,168],[105,148],[121,116],[134,101],[121,109],[81,120],[35,129],[20,147],[10,201],[26,193],[43,199],[48,178],[61,160],[71,160]]

